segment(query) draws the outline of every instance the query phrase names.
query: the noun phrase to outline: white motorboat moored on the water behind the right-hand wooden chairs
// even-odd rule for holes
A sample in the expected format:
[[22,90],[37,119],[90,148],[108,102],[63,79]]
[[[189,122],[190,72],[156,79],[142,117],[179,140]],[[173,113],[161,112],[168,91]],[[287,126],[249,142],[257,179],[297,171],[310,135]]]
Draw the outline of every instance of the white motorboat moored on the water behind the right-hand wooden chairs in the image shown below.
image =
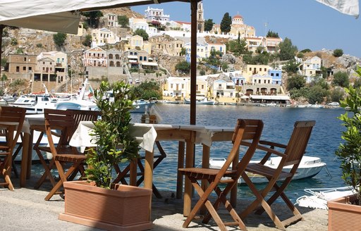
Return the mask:
[[[209,158],[209,168],[221,168],[226,161],[226,158]],[[271,157],[264,164],[270,168],[277,168],[281,161],[280,156]],[[250,163],[258,163],[259,161],[250,161]],[[303,156],[300,166],[298,166],[297,173],[293,176],[293,180],[311,178],[319,173],[326,166],[326,163],[321,161],[321,158],[314,156]],[[290,171],[292,166],[286,166],[283,168],[284,171]],[[264,183],[267,182],[267,179],[261,175],[247,173],[252,180],[253,183]],[[283,179],[280,179],[283,180]],[[244,183],[242,178],[238,181],[238,183]]]

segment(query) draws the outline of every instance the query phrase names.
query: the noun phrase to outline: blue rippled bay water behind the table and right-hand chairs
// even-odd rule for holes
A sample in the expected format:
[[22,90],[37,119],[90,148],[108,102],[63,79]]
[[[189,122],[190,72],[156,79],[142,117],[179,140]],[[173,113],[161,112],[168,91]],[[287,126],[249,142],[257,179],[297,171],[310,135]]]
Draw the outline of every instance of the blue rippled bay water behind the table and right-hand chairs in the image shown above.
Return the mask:
[[[185,104],[157,104],[165,124],[189,124],[190,106]],[[343,108],[278,108],[258,106],[197,106],[197,125],[214,125],[234,127],[238,118],[255,118],[264,121],[262,139],[287,144],[293,124],[296,120],[316,120],[312,130],[306,155],[318,156],[327,164],[329,175],[324,168],[311,179],[295,180],[287,188],[287,194],[295,202],[305,194],[305,188],[341,187],[339,162],[335,158],[335,150],[342,142],[343,126],[336,117],[344,113]],[[139,123],[141,114],[133,113],[133,122]],[[154,169],[154,184],[159,189],[176,190],[178,142],[161,142],[167,157]],[[200,164],[202,146],[197,144],[195,164]],[[211,157],[226,157],[231,149],[231,142],[214,142]],[[257,154],[255,156],[257,158]],[[260,157],[259,157],[260,158]],[[238,186],[240,196],[252,196],[245,186]]]

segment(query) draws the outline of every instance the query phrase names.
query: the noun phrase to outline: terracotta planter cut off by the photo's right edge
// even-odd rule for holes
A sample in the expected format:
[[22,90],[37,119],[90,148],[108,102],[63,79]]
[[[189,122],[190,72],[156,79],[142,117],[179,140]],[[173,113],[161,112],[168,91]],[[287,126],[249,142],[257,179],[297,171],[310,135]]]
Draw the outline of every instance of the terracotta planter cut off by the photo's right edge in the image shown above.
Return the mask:
[[356,196],[344,196],[327,202],[329,206],[329,231],[360,231],[361,206],[346,204],[346,201],[355,201]]

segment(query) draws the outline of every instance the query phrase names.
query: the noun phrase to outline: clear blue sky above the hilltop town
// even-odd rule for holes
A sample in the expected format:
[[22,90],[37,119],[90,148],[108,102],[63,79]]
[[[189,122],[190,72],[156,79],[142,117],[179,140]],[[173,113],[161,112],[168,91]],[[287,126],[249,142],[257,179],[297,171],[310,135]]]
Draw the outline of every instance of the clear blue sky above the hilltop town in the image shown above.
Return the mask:
[[[145,9],[164,9],[170,20],[190,22],[190,4],[172,2],[131,7],[144,15]],[[204,20],[220,24],[225,13],[242,15],[256,36],[269,30],[286,37],[302,49],[343,49],[343,54],[361,58],[361,18],[340,13],[315,0],[203,0]]]

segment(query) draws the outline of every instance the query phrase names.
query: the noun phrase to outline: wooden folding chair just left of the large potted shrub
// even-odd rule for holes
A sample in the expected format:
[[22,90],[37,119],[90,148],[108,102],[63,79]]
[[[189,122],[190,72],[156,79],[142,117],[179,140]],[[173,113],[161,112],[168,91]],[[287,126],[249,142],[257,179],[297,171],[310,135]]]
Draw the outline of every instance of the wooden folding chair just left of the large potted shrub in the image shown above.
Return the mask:
[[[52,161],[54,161],[56,170],[59,173],[59,181],[45,197],[47,201],[51,196],[59,193],[63,182],[66,182],[75,171],[79,170],[81,176],[84,176],[85,169],[83,163],[86,157],[84,154],[80,154],[77,148],[69,145],[71,136],[75,131],[73,114],[73,111],[44,109],[45,129],[49,148],[53,156]],[[54,144],[54,130],[56,130],[57,135],[60,135],[58,144]]]

